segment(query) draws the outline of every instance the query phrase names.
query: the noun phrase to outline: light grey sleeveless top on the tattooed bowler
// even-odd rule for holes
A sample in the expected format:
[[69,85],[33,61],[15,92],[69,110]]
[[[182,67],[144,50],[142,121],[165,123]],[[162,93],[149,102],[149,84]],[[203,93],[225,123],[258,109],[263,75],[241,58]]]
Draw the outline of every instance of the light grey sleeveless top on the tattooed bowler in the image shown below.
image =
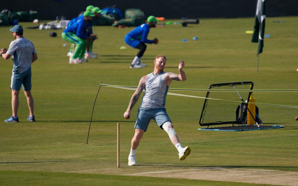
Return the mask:
[[165,97],[169,87],[165,84],[165,73],[147,75],[145,82],[145,93],[142,97],[141,107],[145,108],[165,108]]

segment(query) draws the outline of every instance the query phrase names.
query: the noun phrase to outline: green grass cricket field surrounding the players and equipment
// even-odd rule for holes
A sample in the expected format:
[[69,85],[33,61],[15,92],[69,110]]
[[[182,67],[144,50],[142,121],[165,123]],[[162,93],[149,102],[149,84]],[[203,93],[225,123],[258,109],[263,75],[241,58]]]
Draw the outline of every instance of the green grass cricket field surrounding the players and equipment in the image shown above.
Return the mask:
[[[283,20],[284,23],[273,23]],[[0,185],[252,185],[203,179],[135,177],[128,174],[188,169],[261,169],[298,172],[298,115],[296,108],[259,105],[264,124],[284,125],[282,129],[246,132],[198,131],[204,99],[167,96],[167,112],[183,146],[192,153],[184,161],[168,135],[151,122],[137,149],[137,163],[129,167],[127,157],[134,134],[134,121],[125,112],[133,91],[101,87],[86,144],[94,99],[101,82],[137,86],[154,68],[157,54],[167,57],[165,71],[178,73],[178,61],[185,61],[185,82],[170,88],[207,89],[211,84],[252,81],[255,90],[297,89],[298,17],[266,19],[263,53],[256,72],[258,44],[251,43],[254,18],[201,19],[200,24],[167,25],[150,30],[143,56],[147,67],[130,69],[138,50],[125,44],[124,36],[133,28],[94,27],[98,40],[93,51],[98,58],[70,65],[66,56],[70,44],[49,36],[50,30],[26,29],[24,36],[38,53],[32,66],[32,94],[36,122],[27,122],[25,96],[20,92],[20,123],[4,123],[11,115],[10,77],[12,61],[0,59]],[[177,20],[171,20],[172,22]],[[13,40],[10,27],[0,27],[0,47]],[[192,40],[197,36],[198,40]],[[187,39],[187,42],[182,42]],[[64,48],[63,44],[67,47]],[[121,50],[126,46],[126,50]],[[170,91],[169,91],[170,92]],[[206,92],[177,92],[205,97]],[[298,106],[297,92],[256,92],[256,102]],[[228,104],[228,103],[227,103]],[[236,108],[235,108],[236,109]],[[120,168],[116,168],[116,123],[120,122]],[[204,171],[198,172],[204,174]],[[282,179],[282,178],[281,178]],[[262,182],[260,182],[262,183]],[[282,185],[282,182],[279,184]],[[297,184],[297,183],[296,183]]]

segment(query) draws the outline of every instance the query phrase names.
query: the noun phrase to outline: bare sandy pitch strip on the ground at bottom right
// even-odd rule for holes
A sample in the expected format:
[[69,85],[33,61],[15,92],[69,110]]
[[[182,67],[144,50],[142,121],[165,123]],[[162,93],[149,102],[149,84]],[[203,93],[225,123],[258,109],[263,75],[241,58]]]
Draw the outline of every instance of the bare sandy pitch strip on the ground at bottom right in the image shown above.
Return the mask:
[[168,171],[139,172],[127,175],[298,186],[298,172],[265,169],[179,168]]

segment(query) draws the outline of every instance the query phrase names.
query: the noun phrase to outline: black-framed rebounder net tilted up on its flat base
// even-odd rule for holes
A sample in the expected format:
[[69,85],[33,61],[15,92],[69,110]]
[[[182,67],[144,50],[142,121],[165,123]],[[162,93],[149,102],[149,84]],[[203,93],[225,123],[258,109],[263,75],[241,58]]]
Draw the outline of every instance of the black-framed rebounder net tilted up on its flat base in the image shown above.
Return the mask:
[[[207,126],[205,129],[198,130],[216,130],[216,131],[247,131],[258,129],[276,129],[283,126],[255,126],[243,124],[242,120],[236,118],[237,107],[239,101],[245,101],[246,112],[248,102],[252,92],[237,91],[237,90],[252,90],[254,83],[248,82],[230,82],[212,84],[208,89],[212,90],[235,90],[235,91],[208,91],[206,99],[201,112],[199,124],[201,126]],[[213,99],[208,99],[213,98]],[[222,99],[222,100],[218,100]],[[243,99],[243,100],[242,100]],[[231,100],[229,102],[225,100]],[[241,115],[241,109],[238,111],[238,116]],[[209,128],[210,125],[226,125],[232,126],[214,127]],[[237,126],[234,126],[237,124]]]

